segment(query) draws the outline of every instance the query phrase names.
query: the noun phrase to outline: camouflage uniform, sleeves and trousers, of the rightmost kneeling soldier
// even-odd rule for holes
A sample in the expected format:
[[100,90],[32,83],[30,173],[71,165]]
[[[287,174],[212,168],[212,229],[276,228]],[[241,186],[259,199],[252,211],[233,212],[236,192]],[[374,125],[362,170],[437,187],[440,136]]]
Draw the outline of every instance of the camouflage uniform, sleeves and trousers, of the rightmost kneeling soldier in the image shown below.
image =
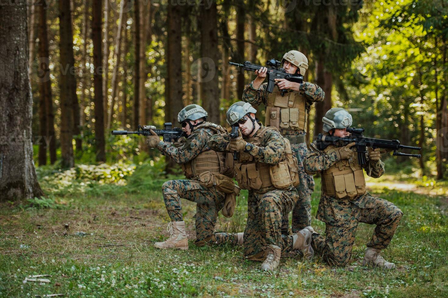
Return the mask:
[[[310,144],[311,152],[306,155],[303,165],[306,173],[314,175],[335,164],[336,153],[320,151],[316,141]],[[378,178],[384,173],[384,163],[374,163],[367,158],[363,166],[367,175]],[[313,233],[314,251],[332,266],[345,266],[350,260],[358,222],[376,224],[368,248],[387,248],[403,213],[389,201],[364,193],[355,197],[337,198],[322,193],[316,218],[325,222],[325,238]]]

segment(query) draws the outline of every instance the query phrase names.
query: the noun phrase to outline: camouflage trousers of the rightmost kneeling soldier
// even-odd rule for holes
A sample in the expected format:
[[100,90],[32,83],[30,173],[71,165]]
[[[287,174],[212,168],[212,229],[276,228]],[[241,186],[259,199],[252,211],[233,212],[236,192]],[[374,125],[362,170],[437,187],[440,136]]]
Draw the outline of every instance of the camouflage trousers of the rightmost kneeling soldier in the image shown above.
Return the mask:
[[[347,214],[353,214],[356,218],[348,227],[335,227],[326,225],[325,238],[319,234],[313,234],[311,243],[316,254],[323,257],[331,266],[345,266],[352,255],[352,247],[355,241],[358,222],[376,224],[372,238],[367,247],[387,248],[400,222],[403,212],[389,201],[374,198],[375,207],[362,209],[354,204],[351,210],[343,210]],[[340,212],[340,210],[334,210]]]

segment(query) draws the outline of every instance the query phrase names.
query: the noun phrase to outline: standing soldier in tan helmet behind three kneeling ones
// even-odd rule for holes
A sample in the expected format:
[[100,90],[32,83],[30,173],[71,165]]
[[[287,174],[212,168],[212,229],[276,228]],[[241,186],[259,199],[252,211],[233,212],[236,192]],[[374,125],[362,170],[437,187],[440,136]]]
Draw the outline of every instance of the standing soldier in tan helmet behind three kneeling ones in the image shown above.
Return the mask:
[[[281,60],[284,70],[289,74],[305,75],[308,69],[308,59],[297,50],[290,50]],[[275,126],[289,140],[291,148],[297,156],[300,184],[297,186],[299,199],[293,210],[292,230],[297,233],[311,225],[311,194],[314,190],[313,177],[303,169],[303,157],[306,155],[306,121],[313,102],[323,101],[325,93],[322,88],[309,82],[295,83],[286,79],[276,79],[276,87],[268,93],[266,78],[267,68],[255,71],[257,77],[246,86],[243,101],[251,105],[266,105],[267,126]],[[262,84],[263,83],[263,84]],[[288,90],[282,96],[281,90]],[[284,214],[282,234],[288,234],[288,214]]]

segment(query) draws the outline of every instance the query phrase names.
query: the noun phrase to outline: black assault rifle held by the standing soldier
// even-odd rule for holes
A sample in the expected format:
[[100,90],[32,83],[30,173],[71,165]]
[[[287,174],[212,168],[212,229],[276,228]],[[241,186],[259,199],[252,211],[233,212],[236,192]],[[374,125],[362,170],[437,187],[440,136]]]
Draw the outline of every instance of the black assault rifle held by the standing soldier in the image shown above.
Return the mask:
[[[256,71],[260,68],[263,68],[261,65],[252,64],[249,61],[246,61],[243,64],[233,63],[229,62],[230,65],[235,65],[237,67],[241,67],[245,71]],[[272,93],[274,90],[274,85],[276,84],[275,79],[286,79],[291,82],[295,83],[302,83],[303,82],[303,76],[301,75],[292,75],[290,73],[287,73],[284,68],[280,68],[280,61],[277,61],[276,59],[267,60],[266,62],[267,67],[267,89],[266,91],[269,93]],[[287,90],[281,90],[281,96],[284,95],[284,93]]]

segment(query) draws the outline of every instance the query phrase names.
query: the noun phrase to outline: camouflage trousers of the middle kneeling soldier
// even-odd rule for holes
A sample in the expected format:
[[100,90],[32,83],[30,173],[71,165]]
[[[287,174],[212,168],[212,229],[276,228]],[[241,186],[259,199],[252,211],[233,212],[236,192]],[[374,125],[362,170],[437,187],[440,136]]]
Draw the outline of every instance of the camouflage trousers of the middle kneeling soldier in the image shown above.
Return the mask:
[[297,201],[294,189],[275,189],[263,194],[249,191],[247,200],[247,224],[244,230],[244,255],[253,260],[264,260],[263,248],[269,244],[277,245],[282,252],[292,248],[293,238],[282,237],[281,220]]

